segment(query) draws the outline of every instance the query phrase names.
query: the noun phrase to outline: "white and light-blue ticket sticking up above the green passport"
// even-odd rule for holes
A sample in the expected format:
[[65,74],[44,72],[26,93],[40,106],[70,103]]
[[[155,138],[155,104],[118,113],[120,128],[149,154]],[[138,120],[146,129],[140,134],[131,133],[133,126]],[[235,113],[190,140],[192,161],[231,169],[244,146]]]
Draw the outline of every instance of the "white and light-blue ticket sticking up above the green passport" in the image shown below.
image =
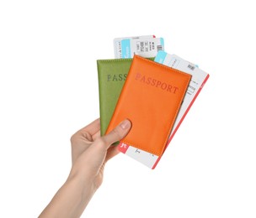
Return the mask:
[[138,54],[144,58],[155,57],[159,50],[164,50],[163,38],[154,35],[137,36],[133,38],[114,39],[115,58],[132,58]]

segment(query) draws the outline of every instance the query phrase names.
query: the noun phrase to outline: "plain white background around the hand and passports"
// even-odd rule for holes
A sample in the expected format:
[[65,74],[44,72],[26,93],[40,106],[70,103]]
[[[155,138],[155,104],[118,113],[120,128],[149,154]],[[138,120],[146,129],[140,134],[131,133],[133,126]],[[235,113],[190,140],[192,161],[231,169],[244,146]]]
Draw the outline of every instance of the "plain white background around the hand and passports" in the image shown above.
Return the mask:
[[0,217],[36,217],[99,117],[97,59],[155,34],[211,76],[154,170],[121,154],[83,217],[256,217],[253,1],[0,2]]

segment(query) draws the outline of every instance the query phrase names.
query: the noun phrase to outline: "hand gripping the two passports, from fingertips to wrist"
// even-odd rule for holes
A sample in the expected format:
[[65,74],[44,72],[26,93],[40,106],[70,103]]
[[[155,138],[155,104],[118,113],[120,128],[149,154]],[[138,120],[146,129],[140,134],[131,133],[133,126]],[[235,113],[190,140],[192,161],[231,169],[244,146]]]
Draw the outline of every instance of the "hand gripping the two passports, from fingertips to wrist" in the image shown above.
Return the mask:
[[104,165],[119,150],[112,143],[124,138],[131,128],[131,122],[125,120],[108,135],[100,137],[99,119],[77,131],[71,138],[72,174],[79,172],[84,178],[91,179],[98,189],[103,181]]

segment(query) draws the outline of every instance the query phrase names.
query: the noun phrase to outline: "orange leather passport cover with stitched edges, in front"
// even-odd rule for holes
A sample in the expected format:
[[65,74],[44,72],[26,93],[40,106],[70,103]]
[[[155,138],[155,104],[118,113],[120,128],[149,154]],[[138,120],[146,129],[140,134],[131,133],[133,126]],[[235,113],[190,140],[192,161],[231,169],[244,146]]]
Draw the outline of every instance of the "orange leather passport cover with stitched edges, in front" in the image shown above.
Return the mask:
[[190,79],[135,54],[106,133],[129,119],[131,131],[120,142],[161,156]]

